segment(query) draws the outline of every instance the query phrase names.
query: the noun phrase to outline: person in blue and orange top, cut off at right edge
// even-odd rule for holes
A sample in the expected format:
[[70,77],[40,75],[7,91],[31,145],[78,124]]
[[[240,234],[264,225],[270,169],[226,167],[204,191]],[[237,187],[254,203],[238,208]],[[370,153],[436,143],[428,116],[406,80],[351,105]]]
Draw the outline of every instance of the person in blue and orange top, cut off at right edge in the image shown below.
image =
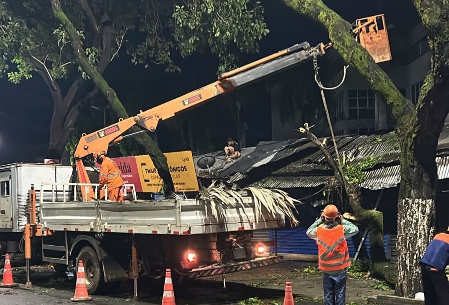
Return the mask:
[[426,305],[449,305],[449,282],[445,273],[448,264],[449,227],[448,231],[435,235],[421,259]]

